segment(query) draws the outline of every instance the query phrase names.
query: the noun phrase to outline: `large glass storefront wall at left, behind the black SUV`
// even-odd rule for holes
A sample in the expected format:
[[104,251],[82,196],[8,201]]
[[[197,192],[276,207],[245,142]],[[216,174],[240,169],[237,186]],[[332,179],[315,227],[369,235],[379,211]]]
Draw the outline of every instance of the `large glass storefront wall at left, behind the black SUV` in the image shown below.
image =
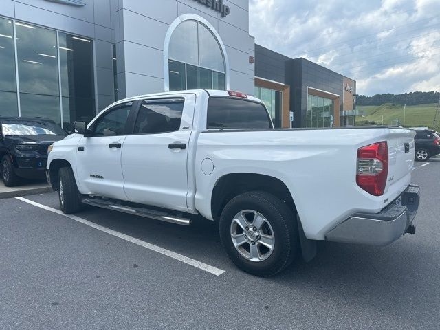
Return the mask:
[[71,129],[75,120],[91,120],[95,115],[92,41],[0,18],[0,115],[42,117],[65,129]]

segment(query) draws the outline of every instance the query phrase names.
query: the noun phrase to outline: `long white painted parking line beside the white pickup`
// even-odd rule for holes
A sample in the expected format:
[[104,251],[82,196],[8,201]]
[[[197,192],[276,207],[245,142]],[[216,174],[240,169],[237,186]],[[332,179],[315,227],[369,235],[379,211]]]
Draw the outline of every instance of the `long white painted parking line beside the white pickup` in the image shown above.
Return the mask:
[[49,206],[45,206],[43,204],[40,203],[36,203],[35,201],[30,201],[29,199],[25,199],[23,197],[16,197],[17,199],[19,199],[20,201],[24,201],[25,203],[28,203],[30,205],[36,206],[38,208],[43,208],[43,210],[47,210],[50,212],[54,212],[56,214],[60,214],[63,215],[64,217],[70,218],[72,220],[78,221],[80,223],[83,223],[84,225],[88,225],[91,228],[95,228],[97,230],[100,230],[101,232],[105,232],[107,234],[110,234],[112,236],[118,237],[120,239],[124,239],[125,241],[129,241],[133,244],[136,245],[140,245],[143,248],[146,248],[148,250],[152,250],[155,252],[159,252],[160,254],[164,254],[165,256],[169,256],[170,258],[176,259],[178,261],[181,261],[182,263],[186,263],[187,265],[191,265],[193,267],[197,267],[199,268],[199,270],[204,270],[205,272],[208,272],[210,274],[214,274],[216,276],[220,276],[221,274],[223,274],[225,272],[225,270],[221,270],[217,267],[208,265],[206,263],[202,263],[201,261],[197,261],[195,259],[191,259],[188,258],[188,256],[183,256],[181,254],[178,254],[176,252],[170,251],[170,250],[166,250],[164,248],[160,248],[157,245],[153,245],[151,243],[147,243],[145,241],[141,241],[140,239],[135,239],[132,236],[126,235],[126,234],[122,234],[120,232],[117,232],[115,230],[111,230],[109,228],[105,228],[102,225],[97,225],[96,223],[93,223],[91,221],[88,221],[86,219],[80,218],[80,217],[76,217],[76,215],[72,215],[72,214],[64,214],[63,212],[61,212],[60,210],[56,210],[55,208],[50,208]]

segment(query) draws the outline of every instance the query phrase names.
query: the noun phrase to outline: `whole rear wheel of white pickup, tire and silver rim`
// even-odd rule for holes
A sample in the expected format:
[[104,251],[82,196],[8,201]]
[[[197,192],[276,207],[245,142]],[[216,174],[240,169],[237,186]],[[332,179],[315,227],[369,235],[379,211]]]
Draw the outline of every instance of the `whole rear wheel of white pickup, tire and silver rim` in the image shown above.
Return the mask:
[[272,276],[294,260],[298,226],[292,210],[267,192],[246,192],[226,204],[220,237],[228,256],[241,270]]

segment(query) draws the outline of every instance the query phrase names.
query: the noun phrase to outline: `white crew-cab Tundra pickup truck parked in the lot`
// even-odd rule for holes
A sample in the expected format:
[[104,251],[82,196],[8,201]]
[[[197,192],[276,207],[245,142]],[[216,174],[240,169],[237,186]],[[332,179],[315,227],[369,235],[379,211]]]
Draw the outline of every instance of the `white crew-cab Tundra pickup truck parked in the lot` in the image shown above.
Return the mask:
[[180,225],[201,215],[252,274],[311,260],[316,241],[415,232],[408,129],[274,129],[259,99],[195,90],[120,100],[74,131],[47,162],[63,212],[89,204]]

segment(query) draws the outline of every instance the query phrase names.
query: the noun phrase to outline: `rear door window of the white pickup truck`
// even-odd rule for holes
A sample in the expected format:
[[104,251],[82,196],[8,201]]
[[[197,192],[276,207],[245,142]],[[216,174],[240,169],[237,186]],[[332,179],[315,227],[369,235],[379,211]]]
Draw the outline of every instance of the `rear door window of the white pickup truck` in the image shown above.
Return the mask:
[[179,131],[183,99],[144,100],[135,122],[135,134]]

